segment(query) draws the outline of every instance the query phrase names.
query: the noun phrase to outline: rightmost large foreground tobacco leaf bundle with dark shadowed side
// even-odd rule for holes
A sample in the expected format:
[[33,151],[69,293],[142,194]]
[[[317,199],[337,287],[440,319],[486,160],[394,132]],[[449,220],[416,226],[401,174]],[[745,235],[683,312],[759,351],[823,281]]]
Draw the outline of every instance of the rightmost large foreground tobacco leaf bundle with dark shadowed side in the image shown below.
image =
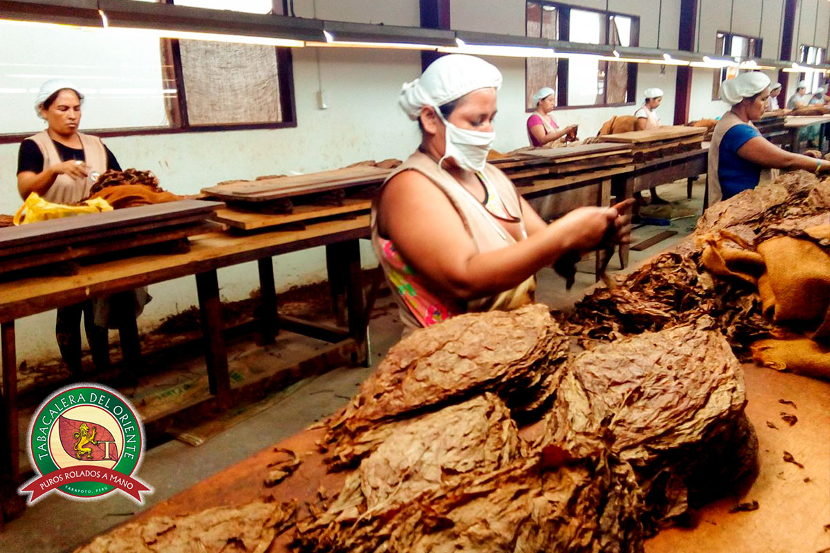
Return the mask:
[[681,515],[687,501],[722,495],[756,467],[740,365],[713,323],[701,318],[583,352],[548,415],[549,429],[595,434],[608,425],[655,524]]

